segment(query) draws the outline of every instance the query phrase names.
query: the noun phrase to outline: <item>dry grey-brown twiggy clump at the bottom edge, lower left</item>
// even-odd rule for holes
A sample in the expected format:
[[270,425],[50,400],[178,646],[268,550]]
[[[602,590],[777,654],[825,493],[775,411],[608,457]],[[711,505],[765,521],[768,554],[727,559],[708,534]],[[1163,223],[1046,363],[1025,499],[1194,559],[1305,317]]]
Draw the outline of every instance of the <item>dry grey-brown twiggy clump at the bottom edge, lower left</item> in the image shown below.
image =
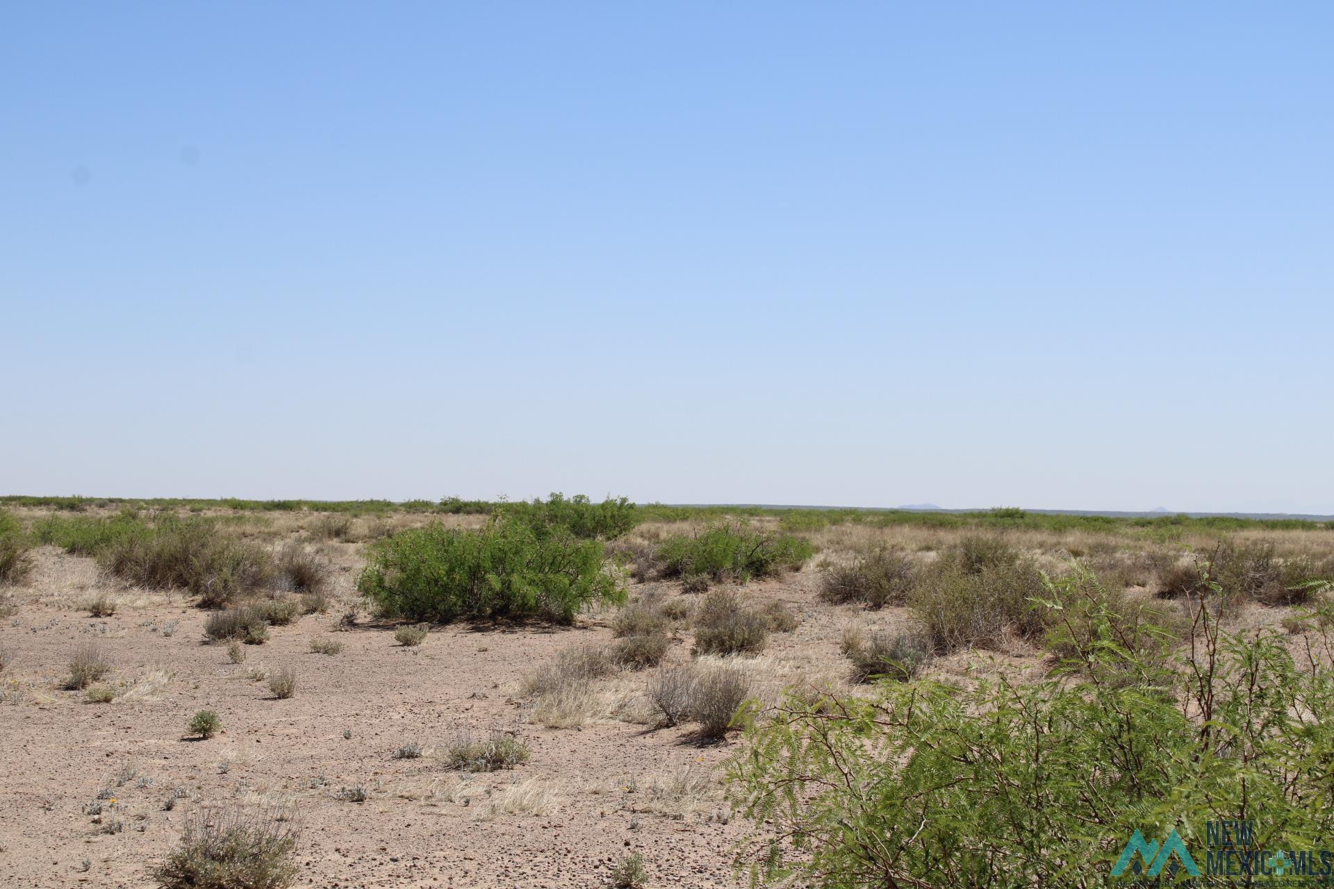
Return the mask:
[[205,809],[152,877],[160,889],[285,889],[300,873],[297,837],[284,810]]

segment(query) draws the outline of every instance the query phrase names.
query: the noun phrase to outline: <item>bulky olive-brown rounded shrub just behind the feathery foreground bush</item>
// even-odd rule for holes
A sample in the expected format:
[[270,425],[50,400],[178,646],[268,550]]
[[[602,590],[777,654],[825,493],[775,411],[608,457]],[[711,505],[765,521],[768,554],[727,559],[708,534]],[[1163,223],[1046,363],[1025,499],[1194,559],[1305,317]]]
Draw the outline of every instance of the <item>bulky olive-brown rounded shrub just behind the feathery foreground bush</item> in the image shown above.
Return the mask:
[[942,554],[922,573],[908,606],[938,652],[995,648],[1007,633],[1022,638],[1042,634],[1042,616],[1034,604],[1042,593],[1042,573],[1029,560],[975,561],[956,552]]

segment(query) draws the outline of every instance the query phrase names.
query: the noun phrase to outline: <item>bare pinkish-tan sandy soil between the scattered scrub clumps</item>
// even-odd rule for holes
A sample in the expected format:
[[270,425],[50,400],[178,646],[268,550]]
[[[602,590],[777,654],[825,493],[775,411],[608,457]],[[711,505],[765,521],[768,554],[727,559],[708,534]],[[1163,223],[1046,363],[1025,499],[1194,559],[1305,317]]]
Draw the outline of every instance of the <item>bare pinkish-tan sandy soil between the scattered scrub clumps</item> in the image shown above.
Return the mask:
[[[751,825],[730,816],[718,766],[735,737],[700,744],[684,728],[614,718],[579,729],[528,721],[522,677],[570,645],[610,640],[606,614],[562,629],[436,628],[420,648],[367,618],[334,632],[359,557],[354,545],[331,550],[346,601],[273,628],[268,642],[245,648],[244,664],[203,642],[207,612],[184,596],[125,589],[89,558],[36,550],[33,580],[11,590],[19,609],[0,624],[0,885],[151,886],[148,869],[200,806],[235,804],[295,806],[301,881],[315,886],[600,886],[630,852],[642,853],[655,886],[734,884],[731,849]],[[818,605],[810,570],[748,589],[803,618],[758,661],[775,689],[794,676],[838,681],[838,637],[855,609]],[[120,608],[88,617],[85,602],[101,592]],[[891,610],[870,622],[902,620]],[[316,636],[342,642],[342,653],[311,653]],[[88,640],[115,666],[111,704],[61,689]],[[670,657],[687,658],[688,646],[687,633]],[[295,697],[275,700],[247,677],[256,668],[295,670]],[[646,680],[610,682],[632,700]],[[207,741],[184,729],[200,709],[224,728]],[[462,733],[492,730],[518,730],[531,761],[460,777],[430,756]],[[410,742],[428,756],[395,758]],[[682,778],[703,788],[655,793]],[[346,801],[347,788],[370,798]],[[181,798],[164,809],[173,794]],[[543,805],[524,812],[534,794]],[[99,801],[103,814],[89,814]]]

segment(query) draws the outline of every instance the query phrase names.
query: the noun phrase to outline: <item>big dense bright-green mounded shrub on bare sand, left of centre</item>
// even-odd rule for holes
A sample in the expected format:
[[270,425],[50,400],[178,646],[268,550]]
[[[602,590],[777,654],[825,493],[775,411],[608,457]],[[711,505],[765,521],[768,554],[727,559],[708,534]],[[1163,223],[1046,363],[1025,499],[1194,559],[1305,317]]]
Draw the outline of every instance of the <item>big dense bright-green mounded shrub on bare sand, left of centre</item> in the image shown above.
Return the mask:
[[602,556],[598,541],[510,518],[476,530],[428,525],[372,544],[358,586],[391,617],[570,622],[594,602],[624,601]]

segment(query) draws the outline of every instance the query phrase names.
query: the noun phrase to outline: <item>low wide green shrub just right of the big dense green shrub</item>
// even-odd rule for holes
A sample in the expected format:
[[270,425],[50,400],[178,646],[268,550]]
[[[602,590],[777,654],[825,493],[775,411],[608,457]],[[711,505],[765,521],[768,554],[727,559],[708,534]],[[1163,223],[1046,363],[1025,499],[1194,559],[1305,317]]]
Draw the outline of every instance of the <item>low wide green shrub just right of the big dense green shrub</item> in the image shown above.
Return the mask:
[[747,581],[795,570],[815,546],[791,534],[771,534],[742,522],[720,522],[694,537],[668,537],[658,546],[664,577],[704,574],[714,581]]

